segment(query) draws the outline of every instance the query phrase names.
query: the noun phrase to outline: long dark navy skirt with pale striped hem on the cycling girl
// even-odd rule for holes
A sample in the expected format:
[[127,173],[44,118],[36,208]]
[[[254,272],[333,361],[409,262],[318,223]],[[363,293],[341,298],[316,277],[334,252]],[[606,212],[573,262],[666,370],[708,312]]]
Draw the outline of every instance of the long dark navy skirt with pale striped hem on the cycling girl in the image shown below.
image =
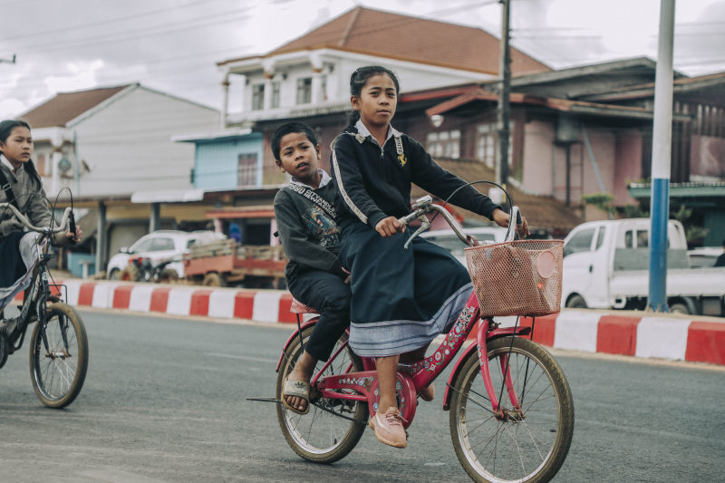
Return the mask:
[[449,330],[472,292],[468,270],[445,248],[407,231],[383,238],[360,222],[343,225],[343,265],[351,269],[350,345],[382,357],[428,345]]

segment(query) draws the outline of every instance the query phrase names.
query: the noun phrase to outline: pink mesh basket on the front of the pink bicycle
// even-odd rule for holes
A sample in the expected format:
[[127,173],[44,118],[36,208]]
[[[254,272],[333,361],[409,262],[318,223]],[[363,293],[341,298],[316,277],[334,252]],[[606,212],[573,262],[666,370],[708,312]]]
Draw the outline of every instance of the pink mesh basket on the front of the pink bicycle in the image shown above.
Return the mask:
[[518,240],[466,248],[480,314],[559,312],[563,248],[562,240]]

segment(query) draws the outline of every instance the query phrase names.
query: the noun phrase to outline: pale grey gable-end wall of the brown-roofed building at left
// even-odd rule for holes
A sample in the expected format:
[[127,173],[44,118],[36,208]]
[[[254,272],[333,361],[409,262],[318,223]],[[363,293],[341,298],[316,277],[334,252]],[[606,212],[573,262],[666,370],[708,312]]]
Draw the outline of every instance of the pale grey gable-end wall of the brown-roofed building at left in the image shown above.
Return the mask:
[[218,112],[143,88],[69,126],[77,134],[82,173],[75,196],[125,195],[191,188],[194,145],[171,142],[179,132],[218,127]]

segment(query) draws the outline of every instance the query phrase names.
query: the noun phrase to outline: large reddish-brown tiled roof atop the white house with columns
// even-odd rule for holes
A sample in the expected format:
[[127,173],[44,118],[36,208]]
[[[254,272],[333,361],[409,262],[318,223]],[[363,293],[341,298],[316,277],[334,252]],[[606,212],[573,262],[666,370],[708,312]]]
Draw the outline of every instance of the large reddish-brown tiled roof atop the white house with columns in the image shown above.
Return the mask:
[[[488,32],[362,6],[333,18],[263,57],[322,48],[472,72],[498,73],[498,38]],[[219,64],[239,60],[243,59]],[[546,64],[511,47],[512,73],[547,71],[551,68]]]

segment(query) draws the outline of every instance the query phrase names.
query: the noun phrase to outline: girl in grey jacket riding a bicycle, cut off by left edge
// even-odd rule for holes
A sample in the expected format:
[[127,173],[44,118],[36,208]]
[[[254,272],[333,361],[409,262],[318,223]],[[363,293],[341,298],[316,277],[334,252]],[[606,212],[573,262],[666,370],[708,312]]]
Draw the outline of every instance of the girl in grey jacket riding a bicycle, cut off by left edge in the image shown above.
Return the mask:
[[[0,169],[10,185],[9,190],[0,189],[0,203],[9,201],[11,193],[17,208],[35,227],[49,227],[53,214],[43,190],[43,181],[35,170],[33,160],[34,144],[30,125],[25,121],[5,120],[0,122]],[[82,232],[59,233],[53,237],[56,246],[78,243]],[[34,232],[25,232],[24,226],[15,219],[7,208],[0,210],[0,288],[9,287],[23,277],[28,269],[20,254],[20,243],[24,237],[36,237]],[[3,307],[0,306],[0,318]]]

